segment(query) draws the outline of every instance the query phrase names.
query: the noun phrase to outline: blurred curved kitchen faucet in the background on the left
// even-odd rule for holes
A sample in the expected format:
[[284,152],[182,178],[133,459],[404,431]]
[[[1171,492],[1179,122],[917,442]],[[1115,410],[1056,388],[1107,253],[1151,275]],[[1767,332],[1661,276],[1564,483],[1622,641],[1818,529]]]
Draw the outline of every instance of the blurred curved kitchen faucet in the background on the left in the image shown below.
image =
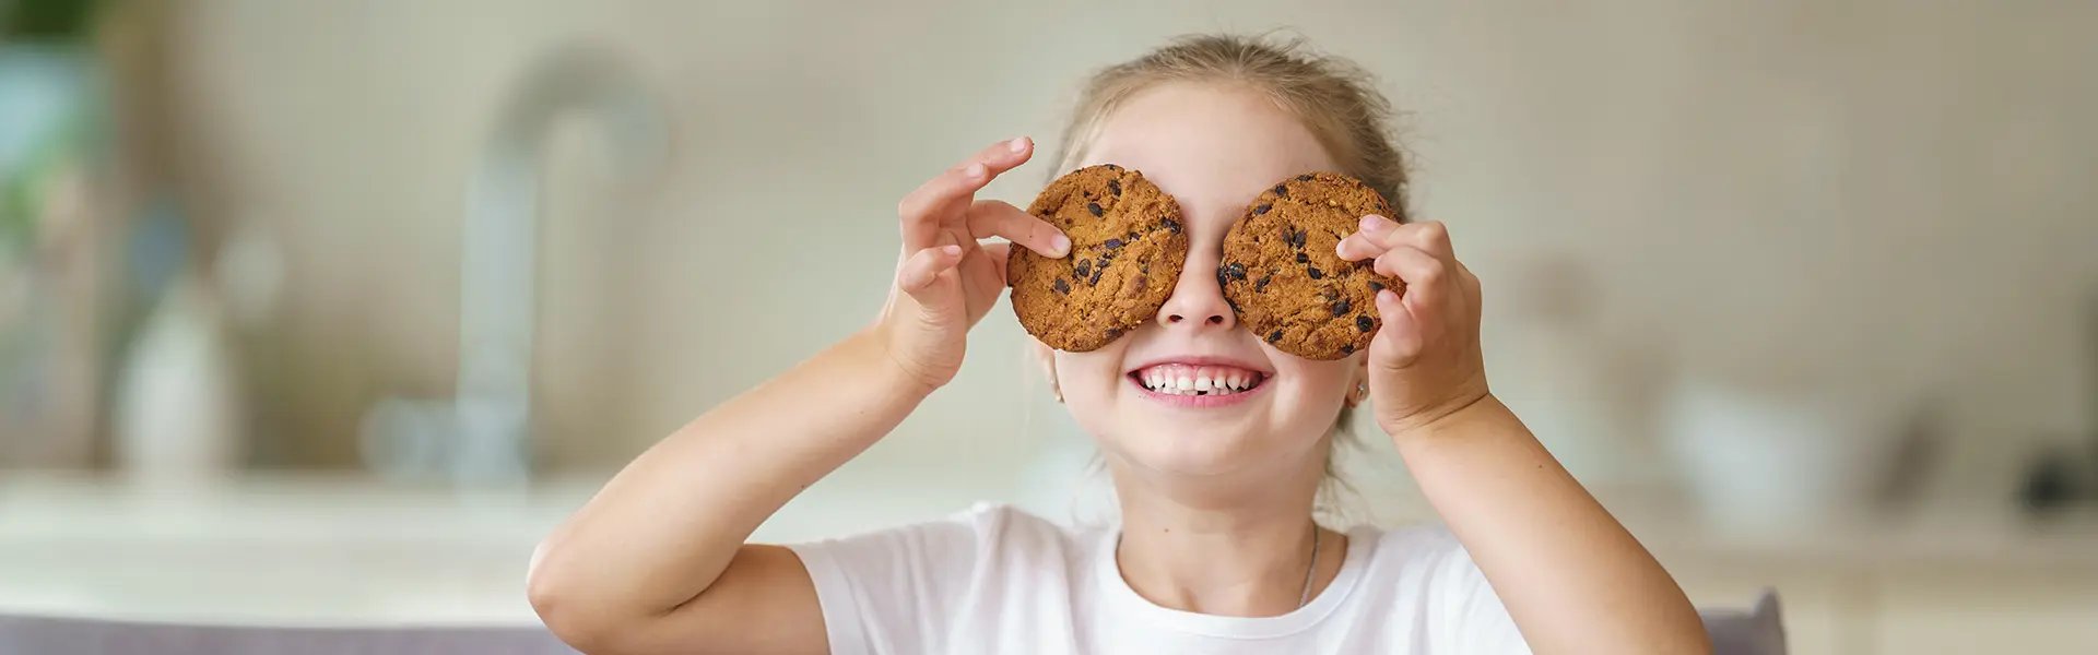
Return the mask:
[[533,460],[533,323],[545,145],[569,115],[596,124],[615,174],[661,166],[669,130],[619,61],[564,48],[533,67],[480,151],[459,233],[459,369],[451,401],[386,399],[363,426],[386,474],[524,481]]

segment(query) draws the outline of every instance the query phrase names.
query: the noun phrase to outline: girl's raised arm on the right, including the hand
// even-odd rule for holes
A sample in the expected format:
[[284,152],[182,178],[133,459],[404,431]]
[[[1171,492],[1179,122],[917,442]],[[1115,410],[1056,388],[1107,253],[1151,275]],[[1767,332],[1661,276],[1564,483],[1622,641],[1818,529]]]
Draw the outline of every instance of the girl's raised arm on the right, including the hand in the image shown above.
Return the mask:
[[1374,256],[1408,283],[1376,298],[1376,420],[1523,640],[1536,653],[1710,653],[1674,577],[1487,393],[1479,279],[1448,229],[1364,218],[1341,256]]

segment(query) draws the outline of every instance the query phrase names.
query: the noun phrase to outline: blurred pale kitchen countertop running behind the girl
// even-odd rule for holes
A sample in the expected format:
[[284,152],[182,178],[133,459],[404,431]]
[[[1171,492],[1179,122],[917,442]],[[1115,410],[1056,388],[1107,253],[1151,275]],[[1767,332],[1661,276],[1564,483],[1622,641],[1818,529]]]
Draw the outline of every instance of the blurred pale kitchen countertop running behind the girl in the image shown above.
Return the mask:
[[[755,540],[816,540],[1026,495],[1003,477],[946,470],[875,479],[848,470],[810,487]],[[359,474],[141,485],[10,472],[0,477],[0,613],[279,626],[529,624],[535,615],[522,584],[533,546],[604,479],[459,489]],[[1945,506],[1750,529],[1699,521],[1660,502],[1668,493],[1599,495],[1672,569],[2098,571],[2098,516],[2090,512],[2029,523],[2004,510]]]

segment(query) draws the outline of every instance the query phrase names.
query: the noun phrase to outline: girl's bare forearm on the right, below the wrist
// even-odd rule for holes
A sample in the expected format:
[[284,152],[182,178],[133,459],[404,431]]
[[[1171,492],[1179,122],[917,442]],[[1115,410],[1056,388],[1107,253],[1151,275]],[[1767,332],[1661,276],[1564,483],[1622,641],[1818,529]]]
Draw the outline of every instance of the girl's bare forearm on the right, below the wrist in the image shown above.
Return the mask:
[[1393,439],[1538,653],[1704,653],[1660,563],[1487,395]]

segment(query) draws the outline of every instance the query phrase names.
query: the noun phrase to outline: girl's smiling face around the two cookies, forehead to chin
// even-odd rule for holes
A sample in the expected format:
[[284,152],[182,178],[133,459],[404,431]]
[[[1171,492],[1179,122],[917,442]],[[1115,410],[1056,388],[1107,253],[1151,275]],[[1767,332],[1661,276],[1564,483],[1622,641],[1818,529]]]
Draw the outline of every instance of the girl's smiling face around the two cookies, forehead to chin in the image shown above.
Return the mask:
[[[1125,468],[1204,479],[1322,468],[1322,437],[1362,380],[1364,355],[1313,361],[1267,346],[1238,325],[1215,273],[1225,231],[1255,195],[1339,164],[1267,97],[1208,84],[1166,84],[1125,101],[1076,162],[1091,164],[1141,170],[1171,193],[1190,252],[1156,319],[1099,351],[1053,353],[1078,424]],[[1146,380],[1158,378],[1211,393],[1150,390]],[[1248,380],[1248,390],[1217,390]]]

